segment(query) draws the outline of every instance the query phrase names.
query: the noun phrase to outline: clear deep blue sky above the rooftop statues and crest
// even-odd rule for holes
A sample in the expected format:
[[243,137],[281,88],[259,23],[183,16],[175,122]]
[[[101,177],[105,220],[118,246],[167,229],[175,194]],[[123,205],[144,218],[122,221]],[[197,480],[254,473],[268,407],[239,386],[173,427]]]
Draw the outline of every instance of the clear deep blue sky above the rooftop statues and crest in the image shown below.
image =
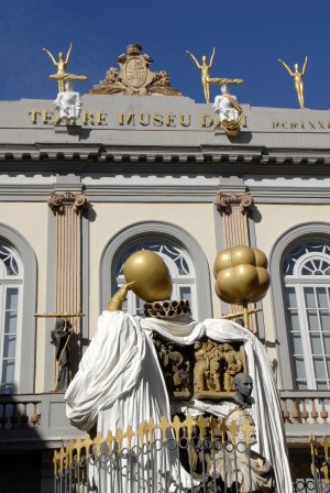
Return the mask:
[[[279,65],[301,67],[307,108],[330,108],[330,0],[0,0],[0,100],[54,99],[56,55],[73,41],[69,72],[87,75],[81,94],[105,77],[130,43],[154,58],[153,70],[169,73],[172,85],[204,102],[198,58],[217,54],[211,75],[243,78],[232,92],[252,106],[297,108],[294,85]],[[212,97],[217,87],[212,87]]]

